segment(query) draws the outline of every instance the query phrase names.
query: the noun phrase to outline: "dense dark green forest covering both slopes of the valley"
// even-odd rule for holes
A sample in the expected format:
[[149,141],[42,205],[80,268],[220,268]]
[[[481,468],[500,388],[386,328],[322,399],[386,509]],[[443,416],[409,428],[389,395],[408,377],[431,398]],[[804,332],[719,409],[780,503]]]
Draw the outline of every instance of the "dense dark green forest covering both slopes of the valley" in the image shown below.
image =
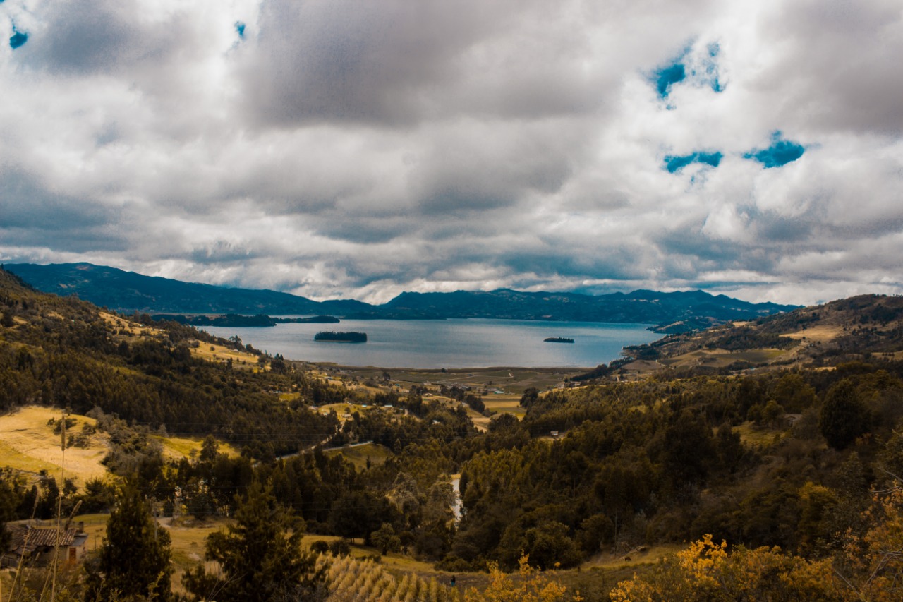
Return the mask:
[[[666,337],[634,356],[807,351],[755,370],[749,359],[718,369],[661,362],[668,367],[625,380],[628,358],[578,379],[579,387],[527,389],[522,419],[498,413],[481,429],[467,409],[490,410],[472,391],[349,388],[175,322],[114,315],[127,317],[131,326],[123,328],[112,313],[38,293],[0,271],[0,410],[44,405],[87,414],[111,444],[110,477],[80,489],[6,470],[0,519],[50,518],[79,503],[79,512],[112,510],[114,525],[144,524],[151,504],[163,515],[233,517],[207,543],[207,560],[222,572],[199,564],[184,578],[180,595],[194,599],[212,591],[218,599],[264,599],[262,591],[266,599],[345,599],[322,560],[338,561],[342,546],[322,543],[314,560],[316,550],[299,547],[301,532],[405,553],[451,573],[498,571],[489,591],[468,592],[475,600],[529,583],[530,567],[579,568],[600,553],[688,542],[695,543],[641,567],[632,581],[584,579],[582,598],[741,599],[730,592],[745,591],[752,599],[900,599],[903,331],[895,321],[903,312],[896,301],[867,297]],[[831,344],[784,336],[807,329],[811,339],[829,318],[845,320],[831,323],[839,333]],[[197,353],[213,343],[256,361],[238,366]],[[372,410],[318,410],[351,401]],[[165,459],[154,440],[161,433],[204,437],[201,451]],[[385,447],[388,459],[355,466],[324,452],[360,441]],[[240,453],[224,453],[225,444]],[[452,512],[456,474],[460,521]],[[269,541],[265,550],[248,547],[255,530]],[[283,560],[254,572],[271,580],[247,580],[237,559],[269,559],[271,550],[284,550]],[[152,551],[154,559],[163,553]],[[116,579],[128,568],[112,558],[88,563],[88,577],[72,591],[115,599],[111,584],[119,583],[123,593]],[[533,577],[506,582],[504,573],[518,568]],[[165,568],[155,575],[161,571],[168,579]],[[147,583],[154,575],[133,578]],[[418,587],[432,588],[429,599],[452,599],[445,588]],[[575,595],[543,591],[547,597],[535,599]]]

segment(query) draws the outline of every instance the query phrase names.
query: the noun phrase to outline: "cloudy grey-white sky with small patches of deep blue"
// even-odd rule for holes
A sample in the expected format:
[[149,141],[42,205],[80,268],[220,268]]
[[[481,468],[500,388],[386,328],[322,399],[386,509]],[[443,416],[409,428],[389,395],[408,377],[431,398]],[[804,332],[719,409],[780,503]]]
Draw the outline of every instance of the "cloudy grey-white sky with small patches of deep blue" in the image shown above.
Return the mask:
[[0,261],[903,293],[899,0],[0,0]]

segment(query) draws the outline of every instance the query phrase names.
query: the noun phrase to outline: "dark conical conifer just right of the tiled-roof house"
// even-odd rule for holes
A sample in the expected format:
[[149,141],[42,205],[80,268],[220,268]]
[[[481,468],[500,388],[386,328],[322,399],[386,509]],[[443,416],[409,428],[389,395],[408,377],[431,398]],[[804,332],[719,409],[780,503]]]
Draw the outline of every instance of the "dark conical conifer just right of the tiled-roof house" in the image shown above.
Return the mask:
[[88,568],[89,600],[168,599],[170,535],[159,527],[134,482],[123,485],[107,520],[97,564]]

